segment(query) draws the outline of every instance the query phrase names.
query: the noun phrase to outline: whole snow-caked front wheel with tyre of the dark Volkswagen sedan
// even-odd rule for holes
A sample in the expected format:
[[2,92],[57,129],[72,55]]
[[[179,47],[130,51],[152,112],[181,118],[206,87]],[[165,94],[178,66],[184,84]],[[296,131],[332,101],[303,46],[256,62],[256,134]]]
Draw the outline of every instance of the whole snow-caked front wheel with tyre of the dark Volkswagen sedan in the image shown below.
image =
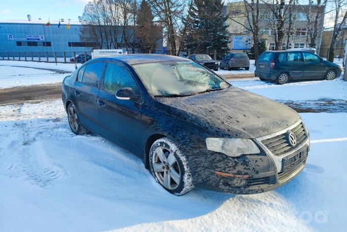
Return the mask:
[[169,193],[181,196],[194,188],[187,159],[170,139],[164,137],[152,144],[149,163],[156,182]]

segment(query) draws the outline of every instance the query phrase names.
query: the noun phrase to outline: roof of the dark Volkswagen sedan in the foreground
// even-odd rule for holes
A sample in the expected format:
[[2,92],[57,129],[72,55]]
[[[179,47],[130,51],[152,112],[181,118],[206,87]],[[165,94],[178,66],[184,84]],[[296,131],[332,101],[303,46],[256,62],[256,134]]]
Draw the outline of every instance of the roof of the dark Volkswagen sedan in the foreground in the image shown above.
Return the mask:
[[118,56],[110,56],[105,58],[97,58],[95,60],[123,61],[129,65],[153,63],[153,62],[161,62],[161,61],[190,61],[183,57],[161,55],[161,54],[129,54],[129,55],[118,55]]

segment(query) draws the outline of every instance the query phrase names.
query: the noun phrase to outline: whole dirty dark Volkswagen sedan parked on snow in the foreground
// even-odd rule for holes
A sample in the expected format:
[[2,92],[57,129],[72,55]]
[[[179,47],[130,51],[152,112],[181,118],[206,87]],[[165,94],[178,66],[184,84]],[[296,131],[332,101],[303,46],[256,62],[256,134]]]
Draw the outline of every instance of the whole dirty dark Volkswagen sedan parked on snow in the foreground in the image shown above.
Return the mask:
[[197,185],[260,193],[306,163],[309,134],[295,111],[185,58],[93,59],[64,79],[62,99],[73,133],[135,153],[175,195]]

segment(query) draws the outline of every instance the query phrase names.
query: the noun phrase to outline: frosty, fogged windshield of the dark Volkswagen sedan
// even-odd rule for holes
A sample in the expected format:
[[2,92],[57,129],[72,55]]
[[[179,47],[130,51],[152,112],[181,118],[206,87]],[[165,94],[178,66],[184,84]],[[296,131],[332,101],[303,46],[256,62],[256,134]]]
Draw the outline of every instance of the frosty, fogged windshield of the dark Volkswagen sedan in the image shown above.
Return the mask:
[[225,89],[223,79],[191,61],[166,61],[133,65],[153,96],[187,96]]

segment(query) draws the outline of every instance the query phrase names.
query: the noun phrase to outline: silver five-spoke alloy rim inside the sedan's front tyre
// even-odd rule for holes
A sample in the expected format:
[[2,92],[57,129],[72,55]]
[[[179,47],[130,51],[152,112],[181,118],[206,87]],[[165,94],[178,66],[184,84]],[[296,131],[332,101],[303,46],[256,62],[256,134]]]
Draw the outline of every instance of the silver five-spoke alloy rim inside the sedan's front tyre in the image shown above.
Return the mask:
[[181,170],[175,155],[165,147],[157,147],[152,157],[153,170],[166,189],[174,190],[181,182]]

